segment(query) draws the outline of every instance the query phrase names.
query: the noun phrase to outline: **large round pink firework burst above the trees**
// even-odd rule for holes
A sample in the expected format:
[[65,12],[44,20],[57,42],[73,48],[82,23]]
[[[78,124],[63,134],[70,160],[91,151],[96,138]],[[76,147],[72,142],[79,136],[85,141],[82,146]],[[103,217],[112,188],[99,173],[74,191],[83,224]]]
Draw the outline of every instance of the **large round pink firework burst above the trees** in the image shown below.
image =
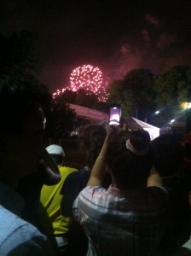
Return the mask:
[[73,69],[70,76],[71,90],[86,90],[87,94],[96,94],[100,101],[106,101],[106,91],[102,84],[102,73],[98,67],[84,65]]

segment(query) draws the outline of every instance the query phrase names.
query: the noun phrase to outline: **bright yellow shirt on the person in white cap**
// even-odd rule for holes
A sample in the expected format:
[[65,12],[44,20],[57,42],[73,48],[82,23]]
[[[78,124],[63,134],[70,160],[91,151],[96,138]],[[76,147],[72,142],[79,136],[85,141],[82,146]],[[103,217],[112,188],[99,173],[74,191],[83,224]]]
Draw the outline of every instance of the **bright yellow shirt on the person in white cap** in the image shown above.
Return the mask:
[[69,230],[72,218],[61,215],[61,199],[63,195],[60,194],[61,188],[67,175],[76,172],[77,169],[58,166],[61,172],[61,181],[53,186],[43,185],[41,190],[41,227],[46,235],[62,235]]

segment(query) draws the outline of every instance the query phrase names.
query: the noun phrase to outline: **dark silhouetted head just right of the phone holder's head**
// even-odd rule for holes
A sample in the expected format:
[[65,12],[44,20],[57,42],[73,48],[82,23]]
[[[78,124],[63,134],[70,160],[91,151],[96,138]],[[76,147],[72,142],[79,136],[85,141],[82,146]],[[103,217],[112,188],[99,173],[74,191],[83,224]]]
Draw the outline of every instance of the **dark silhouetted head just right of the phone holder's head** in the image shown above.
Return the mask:
[[178,139],[170,134],[162,134],[151,142],[154,166],[162,177],[175,174],[183,163],[183,148]]

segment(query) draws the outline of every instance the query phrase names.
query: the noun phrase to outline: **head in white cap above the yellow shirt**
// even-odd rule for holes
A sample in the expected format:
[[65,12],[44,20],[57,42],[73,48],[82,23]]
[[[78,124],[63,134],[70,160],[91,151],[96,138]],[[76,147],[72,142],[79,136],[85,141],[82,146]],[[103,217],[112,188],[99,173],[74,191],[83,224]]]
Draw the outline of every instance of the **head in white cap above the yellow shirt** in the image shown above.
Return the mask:
[[65,158],[64,149],[60,145],[52,144],[46,148],[57,166],[62,166]]

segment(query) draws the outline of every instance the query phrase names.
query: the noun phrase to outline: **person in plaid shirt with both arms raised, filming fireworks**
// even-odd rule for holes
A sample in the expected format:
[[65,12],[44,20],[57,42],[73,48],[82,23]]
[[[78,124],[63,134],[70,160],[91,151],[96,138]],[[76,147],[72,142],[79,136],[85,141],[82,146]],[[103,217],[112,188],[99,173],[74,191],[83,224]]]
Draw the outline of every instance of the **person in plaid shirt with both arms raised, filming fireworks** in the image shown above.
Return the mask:
[[[87,255],[159,255],[168,193],[152,167],[149,143],[147,131],[107,129],[87,187],[73,205],[90,241]],[[101,187],[106,169],[113,177],[109,189]]]

